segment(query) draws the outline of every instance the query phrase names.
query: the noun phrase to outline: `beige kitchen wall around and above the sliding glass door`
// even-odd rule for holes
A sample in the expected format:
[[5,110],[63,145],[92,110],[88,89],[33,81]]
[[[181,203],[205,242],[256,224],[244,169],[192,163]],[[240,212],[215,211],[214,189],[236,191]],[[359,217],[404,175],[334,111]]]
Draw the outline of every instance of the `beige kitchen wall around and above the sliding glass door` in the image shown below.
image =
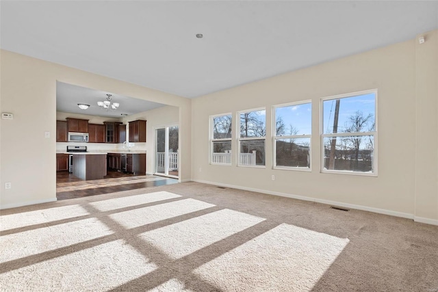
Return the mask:
[[[135,143],[133,149],[137,150],[142,147],[146,150],[146,172],[153,174],[154,159],[155,159],[155,129],[159,127],[169,127],[179,125],[179,107],[159,107],[150,111],[144,111],[140,114],[131,115],[123,118],[123,123],[127,124],[133,120],[147,120],[146,122],[146,143]],[[179,135],[179,143],[181,143],[181,135]],[[188,178],[185,178],[187,181]]]

